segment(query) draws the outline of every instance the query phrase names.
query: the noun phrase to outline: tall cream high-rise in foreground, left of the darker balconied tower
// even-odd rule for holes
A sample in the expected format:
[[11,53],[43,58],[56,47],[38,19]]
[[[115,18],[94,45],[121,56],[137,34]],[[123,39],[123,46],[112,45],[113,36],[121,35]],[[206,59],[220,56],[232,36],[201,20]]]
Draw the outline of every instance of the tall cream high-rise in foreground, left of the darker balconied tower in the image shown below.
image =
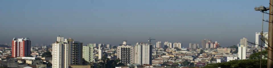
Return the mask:
[[63,37],[57,37],[52,44],[52,68],[68,68],[69,46],[64,42]]

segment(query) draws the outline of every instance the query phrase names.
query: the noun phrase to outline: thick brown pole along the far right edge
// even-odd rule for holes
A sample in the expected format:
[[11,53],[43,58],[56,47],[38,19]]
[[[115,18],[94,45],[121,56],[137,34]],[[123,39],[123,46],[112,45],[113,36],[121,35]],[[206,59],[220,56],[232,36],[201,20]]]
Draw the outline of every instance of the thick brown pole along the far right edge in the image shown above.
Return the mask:
[[270,59],[272,59],[273,58],[273,52],[271,51],[271,50],[273,50],[271,47],[273,47],[273,23],[272,23],[272,21],[273,21],[273,15],[271,15],[271,14],[273,14],[273,12],[272,12],[272,10],[273,10],[273,6],[272,6],[272,4],[273,4],[273,0],[270,0],[270,5],[269,5],[269,22],[271,22],[271,23],[269,23],[268,24],[268,45],[270,46],[270,47],[268,47],[268,58],[267,58],[267,68],[273,68],[273,60],[270,60]]

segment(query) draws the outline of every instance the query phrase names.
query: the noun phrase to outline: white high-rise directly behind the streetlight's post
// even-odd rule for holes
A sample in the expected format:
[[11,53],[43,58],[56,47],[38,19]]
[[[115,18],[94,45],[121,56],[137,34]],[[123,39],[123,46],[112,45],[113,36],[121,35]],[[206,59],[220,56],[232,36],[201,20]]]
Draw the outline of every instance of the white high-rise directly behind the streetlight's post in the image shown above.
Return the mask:
[[[268,45],[266,45],[266,44],[268,44],[268,42],[264,40],[264,38],[268,38],[268,32],[264,32],[263,36],[264,36],[264,37],[262,37],[262,35],[261,35],[260,32],[256,32],[255,44],[261,45],[261,42],[262,42],[262,43],[263,43],[262,45],[263,45],[264,47],[268,47]],[[261,38],[264,40],[265,43],[261,40]],[[257,48],[257,47],[260,47],[260,46],[258,46],[258,45],[255,45],[255,47],[256,47],[256,48]]]

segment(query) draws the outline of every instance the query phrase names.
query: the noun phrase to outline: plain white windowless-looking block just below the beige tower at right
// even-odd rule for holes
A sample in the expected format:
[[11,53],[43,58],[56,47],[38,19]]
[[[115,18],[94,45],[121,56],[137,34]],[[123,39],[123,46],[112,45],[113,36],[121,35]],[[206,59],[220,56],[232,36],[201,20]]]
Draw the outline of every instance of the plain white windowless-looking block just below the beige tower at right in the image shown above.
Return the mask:
[[238,47],[238,57],[241,60],[246,59],[246,52],[247,52],[247,48],[246,47],[242,47],[243,45],[241,45],[241,47]]

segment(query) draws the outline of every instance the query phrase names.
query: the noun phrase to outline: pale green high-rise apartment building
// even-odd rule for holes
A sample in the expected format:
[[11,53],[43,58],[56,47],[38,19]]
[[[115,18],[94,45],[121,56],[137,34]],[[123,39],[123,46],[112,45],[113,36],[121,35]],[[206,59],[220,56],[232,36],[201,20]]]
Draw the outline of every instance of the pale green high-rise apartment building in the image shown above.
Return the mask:
[[93,44],[88,44],[86,46],[83,46],[83,59],[87,62],[93,62],[94,58],[94,48]]

